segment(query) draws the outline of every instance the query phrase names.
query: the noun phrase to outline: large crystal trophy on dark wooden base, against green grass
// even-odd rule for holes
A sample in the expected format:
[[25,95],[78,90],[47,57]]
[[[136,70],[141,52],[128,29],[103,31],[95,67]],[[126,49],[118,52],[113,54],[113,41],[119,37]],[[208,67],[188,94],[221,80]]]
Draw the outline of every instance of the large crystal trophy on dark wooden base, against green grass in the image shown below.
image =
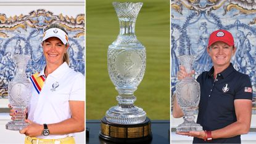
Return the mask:
[[99,137],[115,143],[138,143],[152,139],[151,121],[146,112],[134,106],[134,91],[146,68],[146,49],[136,38],[134,28],[142,2],[113,2],[120,33],[109,46],[109,76],[118,91],[117,106],[112,106],[101,120]]

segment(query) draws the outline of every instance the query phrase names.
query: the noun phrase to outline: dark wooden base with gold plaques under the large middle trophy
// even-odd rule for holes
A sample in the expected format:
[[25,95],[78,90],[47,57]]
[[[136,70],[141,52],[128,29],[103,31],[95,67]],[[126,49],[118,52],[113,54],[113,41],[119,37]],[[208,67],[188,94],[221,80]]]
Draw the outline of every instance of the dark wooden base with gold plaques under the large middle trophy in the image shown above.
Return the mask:
[[151,120],[139,124],[114,124],[101,119],[99,137],[112,143],[144,143],[152,140]]

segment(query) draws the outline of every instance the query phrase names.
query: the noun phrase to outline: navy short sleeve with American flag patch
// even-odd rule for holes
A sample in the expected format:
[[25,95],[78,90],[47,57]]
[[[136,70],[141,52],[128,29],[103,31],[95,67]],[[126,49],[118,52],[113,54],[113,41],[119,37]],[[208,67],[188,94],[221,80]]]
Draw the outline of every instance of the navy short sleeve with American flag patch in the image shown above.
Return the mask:
[[234,99],[249,99],[252,100],[252,84],[248,75],[243,74],[237,82],[239,84],[236,89]]

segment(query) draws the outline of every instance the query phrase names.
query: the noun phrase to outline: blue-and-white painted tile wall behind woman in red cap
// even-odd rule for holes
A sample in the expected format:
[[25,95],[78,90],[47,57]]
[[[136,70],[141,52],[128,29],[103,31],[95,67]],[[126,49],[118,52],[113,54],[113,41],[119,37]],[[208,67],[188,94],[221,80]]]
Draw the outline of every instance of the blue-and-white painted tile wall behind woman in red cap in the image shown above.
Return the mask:
[[252,80],[256,98],[256,2],[226,0],[171,1],[171,92],[177,82],[179,55],[196,55],[195,77],[208,71],[212,62],[206,52],[212,31],[224,29],[234,36],[236,70]]

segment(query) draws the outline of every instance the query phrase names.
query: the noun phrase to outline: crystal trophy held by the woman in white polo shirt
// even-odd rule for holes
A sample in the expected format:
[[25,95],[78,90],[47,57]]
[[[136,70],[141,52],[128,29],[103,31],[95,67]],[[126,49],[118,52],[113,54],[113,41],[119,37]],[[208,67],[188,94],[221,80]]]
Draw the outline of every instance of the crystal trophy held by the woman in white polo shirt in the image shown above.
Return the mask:
[[24,121],[25,110],[31,98],[31,82],[27,79],[25,70],[30,57],[28,55],[14,55],[16,74],[8,84],[8,99],[14,110],[17,110],[14,121],[6,124],[6,129],[21,130],[28,126]]

